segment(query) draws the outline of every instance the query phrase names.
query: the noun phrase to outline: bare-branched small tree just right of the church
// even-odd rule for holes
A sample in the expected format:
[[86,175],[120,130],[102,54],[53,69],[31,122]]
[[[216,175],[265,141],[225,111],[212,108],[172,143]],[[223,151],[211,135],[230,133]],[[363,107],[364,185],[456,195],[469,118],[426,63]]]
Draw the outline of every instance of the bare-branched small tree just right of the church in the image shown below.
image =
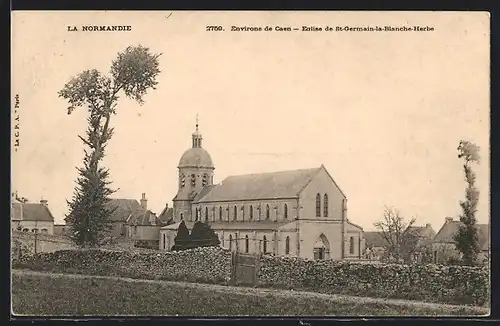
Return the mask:
[[415,218],[407,222],[397,209],[386,207],[383,220],[374,224],[380,231],[386,254],[391,260],[409,261],[416,253],[421,236],[411,228],[414,223]]

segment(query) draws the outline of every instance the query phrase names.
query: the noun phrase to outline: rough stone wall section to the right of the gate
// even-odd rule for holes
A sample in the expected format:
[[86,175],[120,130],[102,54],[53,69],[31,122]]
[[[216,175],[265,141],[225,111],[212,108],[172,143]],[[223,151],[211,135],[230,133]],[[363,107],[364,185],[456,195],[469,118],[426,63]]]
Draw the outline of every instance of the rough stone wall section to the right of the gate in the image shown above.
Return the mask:
[[360,264],[264,256],[259,286],[446,304],[488,305],[487,267]]

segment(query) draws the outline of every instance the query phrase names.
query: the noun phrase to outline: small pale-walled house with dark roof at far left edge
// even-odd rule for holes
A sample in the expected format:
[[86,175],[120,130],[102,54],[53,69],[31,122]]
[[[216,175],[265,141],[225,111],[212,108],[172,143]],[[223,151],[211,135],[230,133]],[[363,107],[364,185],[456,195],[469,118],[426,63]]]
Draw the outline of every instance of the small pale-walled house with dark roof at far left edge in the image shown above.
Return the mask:
[[30,203],[13,198],[10,216],[12,230],[54,234],[54,216],[45,199]]

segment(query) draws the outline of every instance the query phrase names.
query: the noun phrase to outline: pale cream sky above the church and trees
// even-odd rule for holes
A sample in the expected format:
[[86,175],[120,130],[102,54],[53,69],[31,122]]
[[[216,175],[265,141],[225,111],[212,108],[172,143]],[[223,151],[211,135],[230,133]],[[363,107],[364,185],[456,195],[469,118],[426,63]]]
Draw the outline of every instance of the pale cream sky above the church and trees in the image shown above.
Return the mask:
[[[172,206],[177,164],[199,115],[214,181],[324,164],[365,230],[385,206],[437,231],[465,195],[460,140],[489,221],[489,16],[475,12],[14,12],[12,98],[20,146],[12,190],[68,213],[87,110],[57,92],[86,69],[108,73],[130,45],[160,56],[145,103],[121,94],[104,164],[114,197]],[[83,32],[82,25],[129,25]],[[221,25],[225,31],[207,32]],[[431,26],[432,32],[231,32],[230,26]],[[67,26],[79,31],[69,32]],[[12,106],[13,107],[13,106]]]

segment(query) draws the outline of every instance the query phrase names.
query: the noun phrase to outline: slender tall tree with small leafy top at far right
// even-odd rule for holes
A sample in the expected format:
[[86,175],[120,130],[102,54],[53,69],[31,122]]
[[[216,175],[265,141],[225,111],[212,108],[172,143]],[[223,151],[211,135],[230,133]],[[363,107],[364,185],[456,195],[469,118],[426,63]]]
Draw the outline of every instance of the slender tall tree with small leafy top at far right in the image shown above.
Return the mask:
[[472,265],[476,261],[480,251],[478,232],[476,227],[476,212],[479,202],[479,190],[476,188],[476,174],[472,170],[472,164],[480,163],[479,146],[461,140],[458,144],[458,158],[464,160],[464,174],[467,187],[465,188],[465,200],[460,201],[462,214],[460,215],[460,227],[454,236],[457,249],[462,254],[462,263]]

